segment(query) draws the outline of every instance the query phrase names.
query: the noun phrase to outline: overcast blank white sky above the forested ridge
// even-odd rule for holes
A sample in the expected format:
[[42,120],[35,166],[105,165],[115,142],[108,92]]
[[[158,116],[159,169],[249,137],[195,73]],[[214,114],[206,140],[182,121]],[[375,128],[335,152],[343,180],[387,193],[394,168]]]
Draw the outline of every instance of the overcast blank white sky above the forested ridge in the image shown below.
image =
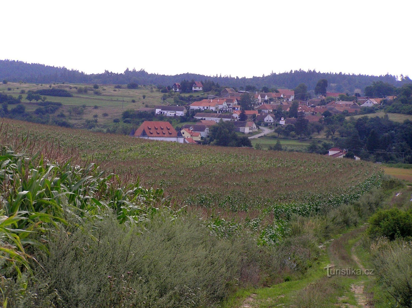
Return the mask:
[[412,1],[2,1],[0,59],[86,73],[412,76]]

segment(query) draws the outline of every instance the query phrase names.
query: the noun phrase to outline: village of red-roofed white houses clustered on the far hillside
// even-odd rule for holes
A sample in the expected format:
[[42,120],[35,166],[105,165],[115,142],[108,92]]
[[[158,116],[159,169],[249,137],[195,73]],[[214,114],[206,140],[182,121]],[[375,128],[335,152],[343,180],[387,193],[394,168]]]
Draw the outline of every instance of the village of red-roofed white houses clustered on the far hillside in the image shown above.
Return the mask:
[[[175,83],[172,91],[180,92],[180,84]],[[203,91],[201,82],[194,82],[193,92]],[[248,95],[250,110],[242,109],[242,96]],[[382,100],[393,100],[395,96],[386,98],[369,98],[356,96],[356,100],[339,100],[345,93],[326,92],[309,100],[295,99],[295,91],[278,89],[278,92],[250,93],[225,88],[219,96],[209,95],[207,98],[195,101],[185,106],[164,105],[155,108],[142,108],[144,112],[154,112],[164,117],[184,117],[188,112],[193,113],[197,120],[195,124],[185,124],[174,128],[169,121],[144,121],[130,136],[151,140],[171,141],[188,144],[201,144],[208,138],[212,126],[231,121],[236,132],[250,134],[248,138],[258,138],[274,132],[277,126],[287,127],[297,125],[298,121],[304,125],[322,123],[325,115],[343,114],[344,116],[358,114],[362,107],[371,107],[381,104]],[[336,98],[325,103],[326,98]],[[347,96],[346,96],[347,97]],[[292,117],[291,110],[295,107],[297,116]],[[259,133],[262,131],[261,133]],[[331,148],[327,155],[344,157],[345,149]],[[355,156],[355,159],[360,159]]]

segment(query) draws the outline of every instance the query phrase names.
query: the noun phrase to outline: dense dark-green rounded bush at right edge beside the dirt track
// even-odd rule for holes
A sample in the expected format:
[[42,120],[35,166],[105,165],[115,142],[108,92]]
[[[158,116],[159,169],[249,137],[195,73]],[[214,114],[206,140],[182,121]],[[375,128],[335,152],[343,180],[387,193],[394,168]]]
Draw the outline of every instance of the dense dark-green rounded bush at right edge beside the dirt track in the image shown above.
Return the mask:
[[412,236],[412,210],[397,208],[378,210],[369,219],[368,234],[372,238],[384,236],[389,240]]

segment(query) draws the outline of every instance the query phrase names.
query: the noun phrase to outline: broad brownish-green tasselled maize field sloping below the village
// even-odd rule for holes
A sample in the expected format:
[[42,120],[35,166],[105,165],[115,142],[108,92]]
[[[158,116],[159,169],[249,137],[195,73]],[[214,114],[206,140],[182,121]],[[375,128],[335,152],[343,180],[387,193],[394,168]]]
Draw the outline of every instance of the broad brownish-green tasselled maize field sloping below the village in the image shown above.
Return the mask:
[[77,157],[97,161],[124,177],[140,177],[147,187],[165,189],[179,203],[234,212],[262,207],[277,211],[284,203],[293,204],[288,210],[292,212],[298,204],[312,210],[333,205],[357,196],[365,188],[361,183],[378,170],[366,161],[318,154],[181,145],[20,121],[6,123],[9,128],[2,138],[12,132],[28,134],[39,147],[54,140],[55,146],[77,149]]

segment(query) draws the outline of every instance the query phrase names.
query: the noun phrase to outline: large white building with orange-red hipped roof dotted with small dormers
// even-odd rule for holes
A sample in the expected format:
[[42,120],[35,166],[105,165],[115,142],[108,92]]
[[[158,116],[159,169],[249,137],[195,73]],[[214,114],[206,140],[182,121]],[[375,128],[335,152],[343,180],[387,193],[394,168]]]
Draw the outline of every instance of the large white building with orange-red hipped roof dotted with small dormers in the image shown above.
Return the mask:
[[178,133],[169,122],[163,121],[144,121],[131,136],[178,143],[183,143],[185,140],[183,135]]

